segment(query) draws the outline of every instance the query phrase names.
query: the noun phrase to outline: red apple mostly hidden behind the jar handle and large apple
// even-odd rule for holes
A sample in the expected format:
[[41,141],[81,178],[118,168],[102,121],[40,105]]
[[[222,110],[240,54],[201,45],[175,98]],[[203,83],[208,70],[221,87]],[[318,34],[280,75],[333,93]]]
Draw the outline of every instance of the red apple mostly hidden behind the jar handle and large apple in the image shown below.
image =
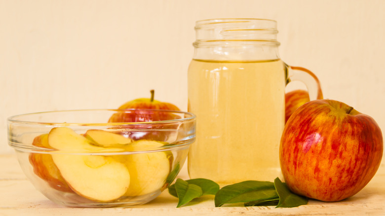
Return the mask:
[[285,123],[295,110],[310,101],[305,90],[294,90],[285,94]]

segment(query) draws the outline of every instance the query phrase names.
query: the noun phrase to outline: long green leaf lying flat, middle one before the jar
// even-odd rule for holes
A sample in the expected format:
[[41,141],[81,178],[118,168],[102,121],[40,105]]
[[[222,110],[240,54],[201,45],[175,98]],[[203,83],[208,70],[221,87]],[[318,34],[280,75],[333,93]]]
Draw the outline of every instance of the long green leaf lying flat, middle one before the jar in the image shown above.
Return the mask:
[[221,188],[214,197],[215,207],[229,203],[247,203],[279,198],[270,181],[242,181]]

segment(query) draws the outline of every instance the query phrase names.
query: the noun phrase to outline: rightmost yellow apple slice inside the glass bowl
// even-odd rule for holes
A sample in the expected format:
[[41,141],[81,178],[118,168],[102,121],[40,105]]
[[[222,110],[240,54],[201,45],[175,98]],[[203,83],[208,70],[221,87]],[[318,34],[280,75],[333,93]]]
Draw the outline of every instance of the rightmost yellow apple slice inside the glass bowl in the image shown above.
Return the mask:
[[[127,146],[129,151],[144,151],[162,146],[163,143],[141,140]],[[125,196],[139,196],[162,188],[170,173],[172,153],[160,151],[122,155],[131,175],[130,186]]]

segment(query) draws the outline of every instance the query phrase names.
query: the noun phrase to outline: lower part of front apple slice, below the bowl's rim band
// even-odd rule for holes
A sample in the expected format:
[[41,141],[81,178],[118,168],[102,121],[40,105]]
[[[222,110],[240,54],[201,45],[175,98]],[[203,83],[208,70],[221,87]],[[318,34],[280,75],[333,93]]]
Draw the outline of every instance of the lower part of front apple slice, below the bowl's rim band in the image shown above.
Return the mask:
[[52,158],[70,187],[88,199],[113,201],[130,185],[127,167],[111,156],[56,154]]

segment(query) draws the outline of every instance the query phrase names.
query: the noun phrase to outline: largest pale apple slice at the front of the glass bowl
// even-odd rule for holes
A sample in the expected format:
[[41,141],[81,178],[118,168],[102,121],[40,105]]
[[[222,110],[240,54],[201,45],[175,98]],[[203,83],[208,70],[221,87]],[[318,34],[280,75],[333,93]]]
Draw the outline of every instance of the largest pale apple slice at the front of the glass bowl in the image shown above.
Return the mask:
[[[53,128],[48,134],[48,143],[64,151],[116,150],[91,145],[85,137],[67,127]],[[130,184],[127,167],[116,161],[114,156],[59,153],[53,154],[52,159],[68,185],[78,195],[94,201],[116,200],[124,195]]]

